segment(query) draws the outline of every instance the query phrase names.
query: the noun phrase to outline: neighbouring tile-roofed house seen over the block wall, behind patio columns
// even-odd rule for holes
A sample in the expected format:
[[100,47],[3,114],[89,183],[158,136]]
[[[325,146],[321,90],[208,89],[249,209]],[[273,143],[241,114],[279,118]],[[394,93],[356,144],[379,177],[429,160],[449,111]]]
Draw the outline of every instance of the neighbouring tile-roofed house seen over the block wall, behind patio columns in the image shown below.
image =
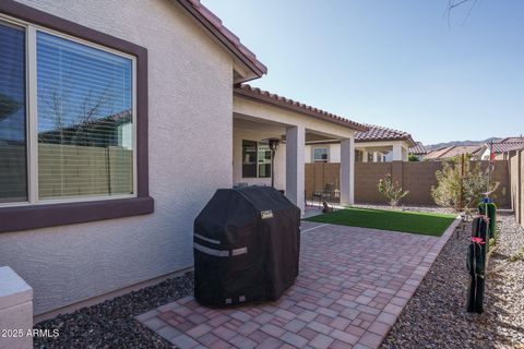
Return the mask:
[[[355,134],[357,163],[407,161],[408,149],[415,146],[409,133],[374,124],[365,124],[366,131]],[[310,137],[306,142],[307,163],[340,163],[336,140]]]

